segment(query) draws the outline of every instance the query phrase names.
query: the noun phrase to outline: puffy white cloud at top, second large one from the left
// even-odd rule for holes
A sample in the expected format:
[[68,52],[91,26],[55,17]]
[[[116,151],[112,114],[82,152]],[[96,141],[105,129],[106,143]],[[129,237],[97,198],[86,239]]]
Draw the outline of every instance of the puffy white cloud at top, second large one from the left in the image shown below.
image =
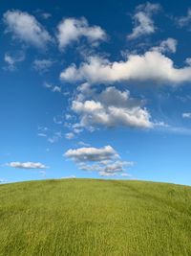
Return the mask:
[[105,32],[98,26],[91,27],[84,17],[63,19],[57,26],[56,36],[61,50],[81,37],[85,37],[94,45],[106,39]]

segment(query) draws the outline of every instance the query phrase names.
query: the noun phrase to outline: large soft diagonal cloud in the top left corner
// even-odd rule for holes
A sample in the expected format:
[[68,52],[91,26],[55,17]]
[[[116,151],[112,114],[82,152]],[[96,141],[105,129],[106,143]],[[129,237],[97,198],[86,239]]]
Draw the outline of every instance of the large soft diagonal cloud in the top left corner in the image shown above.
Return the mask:
[[18,10],[5,12],[4,22],[7,25],[6,33],[11,33],[13,38],[32,46],[44,48],[52,41],[51,35],[28,12]]

